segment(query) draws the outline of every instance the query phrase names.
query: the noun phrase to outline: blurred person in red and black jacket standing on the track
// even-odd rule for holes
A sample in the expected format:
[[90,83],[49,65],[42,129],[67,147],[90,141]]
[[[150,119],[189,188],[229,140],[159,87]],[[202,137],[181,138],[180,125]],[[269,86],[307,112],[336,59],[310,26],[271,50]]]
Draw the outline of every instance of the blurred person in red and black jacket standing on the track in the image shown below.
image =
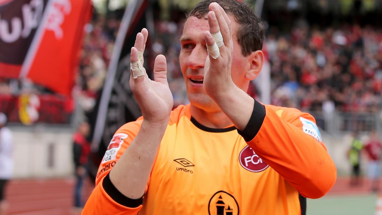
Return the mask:
[[83,181],[87,174],[87,159],[90,153],[90,143],[86,137],[89,135],[90,127],[86,122],[78,126],[76,133],[73,136],[73,158],[76,170],[76,186],[74,190],[74,207],[82,208],[83,202],[81,200],[81,193]]

